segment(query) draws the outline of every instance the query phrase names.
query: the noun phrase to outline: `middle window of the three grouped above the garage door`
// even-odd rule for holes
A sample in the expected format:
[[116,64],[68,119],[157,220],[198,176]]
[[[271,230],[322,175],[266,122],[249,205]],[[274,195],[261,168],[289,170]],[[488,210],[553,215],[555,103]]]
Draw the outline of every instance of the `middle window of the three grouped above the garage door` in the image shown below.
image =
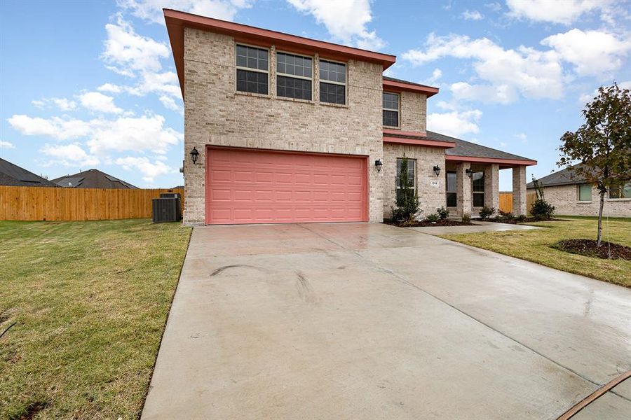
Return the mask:
[[276,53],[276,94],[280,97],[311,101],[313,59],[301,55]]

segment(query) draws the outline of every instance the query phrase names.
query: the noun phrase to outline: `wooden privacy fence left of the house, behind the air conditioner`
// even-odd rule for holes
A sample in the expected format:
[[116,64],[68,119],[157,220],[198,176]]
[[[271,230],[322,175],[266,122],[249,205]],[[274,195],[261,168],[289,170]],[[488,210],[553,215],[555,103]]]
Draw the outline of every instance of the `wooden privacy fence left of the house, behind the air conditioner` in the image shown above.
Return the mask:
[[2,221],[104,221],[150,218],[151,199],[184,190],[0,186]]

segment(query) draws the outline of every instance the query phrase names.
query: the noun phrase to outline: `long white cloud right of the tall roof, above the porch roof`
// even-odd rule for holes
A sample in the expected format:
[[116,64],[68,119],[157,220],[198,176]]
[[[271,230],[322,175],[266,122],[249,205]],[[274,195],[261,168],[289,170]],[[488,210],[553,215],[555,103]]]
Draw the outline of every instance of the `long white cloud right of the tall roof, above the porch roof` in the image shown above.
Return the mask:
[[524,97],[556,99],[563,95],[563,68],[554,51],[524,46],[505,50],[488,38],[430,34],[424,50],[409,50],[402,57],[416,66],[444,57],[473,59],[477,76],[505,94],[516,90]]

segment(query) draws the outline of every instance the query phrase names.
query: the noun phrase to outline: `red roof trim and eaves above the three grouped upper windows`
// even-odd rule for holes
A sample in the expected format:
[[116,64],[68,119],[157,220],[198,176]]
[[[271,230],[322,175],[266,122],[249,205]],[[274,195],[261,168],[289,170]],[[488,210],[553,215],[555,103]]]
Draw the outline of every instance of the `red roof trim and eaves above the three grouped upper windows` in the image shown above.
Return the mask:
[[384,70],[394,64],[397,59],[395,55],[360,50],[359,48],[337,45],[325,41],[316,41],[315,39],[304,38],[302,36],[283,34],[283,32],[226,22],[225,20],[205,18],[204,16],[184,13],[179,10],[165,8],[163,12],[171,42],[171,49],[173,51],[173,58],[175,59],[179,85],[182,89],[182,96],[184,96],[184,27],[226,34],[240,40],[252,40],[252,42],[262,45],[274,44],[278,45],[280,48],[293,48],[294,50],[308,51],[311,53],[318,52],[323,57],[328,58],[351,58],[365,62],[379,63],[383,66]]

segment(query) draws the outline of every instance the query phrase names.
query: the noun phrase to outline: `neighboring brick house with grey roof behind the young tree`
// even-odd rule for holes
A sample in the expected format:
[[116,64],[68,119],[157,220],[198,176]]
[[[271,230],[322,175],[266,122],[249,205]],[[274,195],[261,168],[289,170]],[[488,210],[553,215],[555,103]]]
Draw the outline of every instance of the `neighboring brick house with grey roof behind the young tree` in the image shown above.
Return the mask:
[[[576,167],[576,166],[574,166]],[[562,169],[539,179],[545,200],[555,207],[557,214],[566,216],[597,216],[600,195],[595,184],[585,182],[572,169]],[[529,194],[534,194],[533,183],[527,184]],[[612,188],[605,194],[605,216],[631,217],[631,181]]]

